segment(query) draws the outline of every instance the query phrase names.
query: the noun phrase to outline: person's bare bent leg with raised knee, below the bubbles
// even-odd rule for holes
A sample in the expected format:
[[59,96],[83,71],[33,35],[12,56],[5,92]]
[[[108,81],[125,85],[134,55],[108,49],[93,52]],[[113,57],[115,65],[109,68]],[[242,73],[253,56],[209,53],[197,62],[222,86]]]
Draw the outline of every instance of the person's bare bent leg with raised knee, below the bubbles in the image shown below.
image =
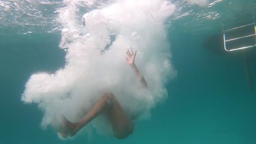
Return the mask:
[[125,139],[133,133],[133,123],[127,117],[112,93],[104,94],[96,105],[92,107],[91,111],[77,123],[69,122],[68,119],[62,116],[62,125],[66,129],[65,133],[69,136],[74,136],[80,129],[106,109],[107,117],[112,124],[114,136],[117,139]]

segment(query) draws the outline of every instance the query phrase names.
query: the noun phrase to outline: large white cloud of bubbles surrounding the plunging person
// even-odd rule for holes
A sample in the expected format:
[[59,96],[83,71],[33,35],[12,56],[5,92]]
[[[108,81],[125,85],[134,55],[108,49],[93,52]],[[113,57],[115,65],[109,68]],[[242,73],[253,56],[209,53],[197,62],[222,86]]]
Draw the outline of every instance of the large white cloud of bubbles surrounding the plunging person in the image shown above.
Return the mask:
[[[149,110],[167,97],[165,83],[176,76],[162,23],[175,6],[164,0],[120,0],[90,11],[84,16],[84,27],[75,18],[75,10],[85,1],[67,2],[67,7],[59,10],[59,21],[66,27],[60,43],[67,52],[65,68],[54,74],[33,74],[22,101],[38,103],[44,112],[43,128],[60,125],[61,114],[78,121],[104,92],[114,93],[129,115],[148,116]],[[115,37],[112,44],[110,35]],[[125,60],[127,46],[138,50],[136,64],[150,93],[136,85],[135,74]],[[99,133],[111,134],[103,116],[92,125]]]

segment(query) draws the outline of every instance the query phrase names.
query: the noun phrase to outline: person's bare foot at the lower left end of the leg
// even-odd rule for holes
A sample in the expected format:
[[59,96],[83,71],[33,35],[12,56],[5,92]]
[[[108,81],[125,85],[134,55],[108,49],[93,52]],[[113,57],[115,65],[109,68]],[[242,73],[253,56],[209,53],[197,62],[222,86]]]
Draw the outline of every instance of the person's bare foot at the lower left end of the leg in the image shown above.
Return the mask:
[[77,125],[77,123],[72,123],[72,122],[68,121],[68,119],[62,115],[62,127],[65,129],[65,132],[69,136],[72,137],[77,133],[77,131],[75,130],[76,125]]

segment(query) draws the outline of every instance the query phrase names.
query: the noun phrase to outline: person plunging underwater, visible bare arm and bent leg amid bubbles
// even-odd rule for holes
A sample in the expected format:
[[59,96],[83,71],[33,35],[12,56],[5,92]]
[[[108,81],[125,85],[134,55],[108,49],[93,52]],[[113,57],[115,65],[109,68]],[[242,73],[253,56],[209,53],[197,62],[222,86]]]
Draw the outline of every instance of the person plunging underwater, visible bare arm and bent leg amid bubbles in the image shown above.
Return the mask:
[[[143,88],[147,88],[147,82],[138,70],[135,65],[135,56],[136,53],[133,53],[129,50],[127,53],[127,63],[131,66],[131,68],[135,71],[136,76]],[[86,124],[92,121],[92,119],[96,118],[100,113],[106,111],[106,116],[108,117],[110,123],[112,124],[112,129],[114,131],[114,136],[117,139],[125,139],[129,135],[133,133],[134,124],[131,119],[126,115],[125,111],[119,104],[118,100],[115,99],[113,93],[105,93],[102,95],[101,99],[97,101],[97,103],[92,107],[92,109],[85,115],[79,122],[72,123],[68,121],[65,116],[62,116],[62,131],[58,131],[62,137],[74,136],[77,132],[82,129]]]

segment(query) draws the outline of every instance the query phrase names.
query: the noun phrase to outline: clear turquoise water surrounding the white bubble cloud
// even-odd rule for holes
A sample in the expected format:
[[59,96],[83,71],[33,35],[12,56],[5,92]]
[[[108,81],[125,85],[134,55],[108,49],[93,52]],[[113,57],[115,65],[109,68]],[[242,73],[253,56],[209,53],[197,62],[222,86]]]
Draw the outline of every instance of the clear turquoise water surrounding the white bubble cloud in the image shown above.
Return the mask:
[[[221,9],[225,4],[220,2],[213,7]],[[212,34],[222,33],[221,28],[216,27],[220,23],[212,25],[214,21],[205,21],[199,27],[199,23],[192,21],[194,29],[191,29],[192,26],[183,25],[196,16],[191,17],[183,17],[172,26],[166,26],[177,77],[166,84],[167,100],[152,110],[150,119],[137,122],[135,133],[126,140],[94,133],[90,138],[77,136],[62,141],[50,127],[40,128],[42,111],[36,104],[24,104],[21,94],[31,74],[54,72],[64,67],[66,53],[59,49],[61,32],[1,34],[0,142],[255,143],[256,84],[252,88],[248,84],[245,55],[251,83],[255,83],[256,49],[229,53],[212,51],[203,43]],[[212,41],[211,45],[214,44]]]

